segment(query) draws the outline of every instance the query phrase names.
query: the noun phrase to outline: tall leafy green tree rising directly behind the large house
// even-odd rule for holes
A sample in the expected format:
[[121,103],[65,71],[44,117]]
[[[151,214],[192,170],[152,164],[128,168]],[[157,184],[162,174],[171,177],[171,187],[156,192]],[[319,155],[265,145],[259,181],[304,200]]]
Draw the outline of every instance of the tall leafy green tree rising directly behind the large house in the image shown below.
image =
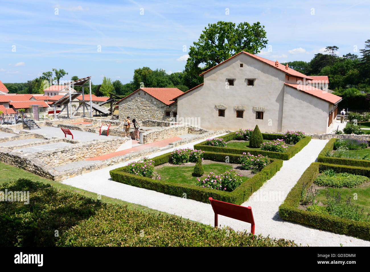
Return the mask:
[[256,54],[266,47],[267,41],[265,26],[259,22],[252,25],[243,22],[238,26],[223,21],[208,24],[199,40],[189,48],[185,71],[197,76],[202,71],[199,65],[213,67],[240,51]]

